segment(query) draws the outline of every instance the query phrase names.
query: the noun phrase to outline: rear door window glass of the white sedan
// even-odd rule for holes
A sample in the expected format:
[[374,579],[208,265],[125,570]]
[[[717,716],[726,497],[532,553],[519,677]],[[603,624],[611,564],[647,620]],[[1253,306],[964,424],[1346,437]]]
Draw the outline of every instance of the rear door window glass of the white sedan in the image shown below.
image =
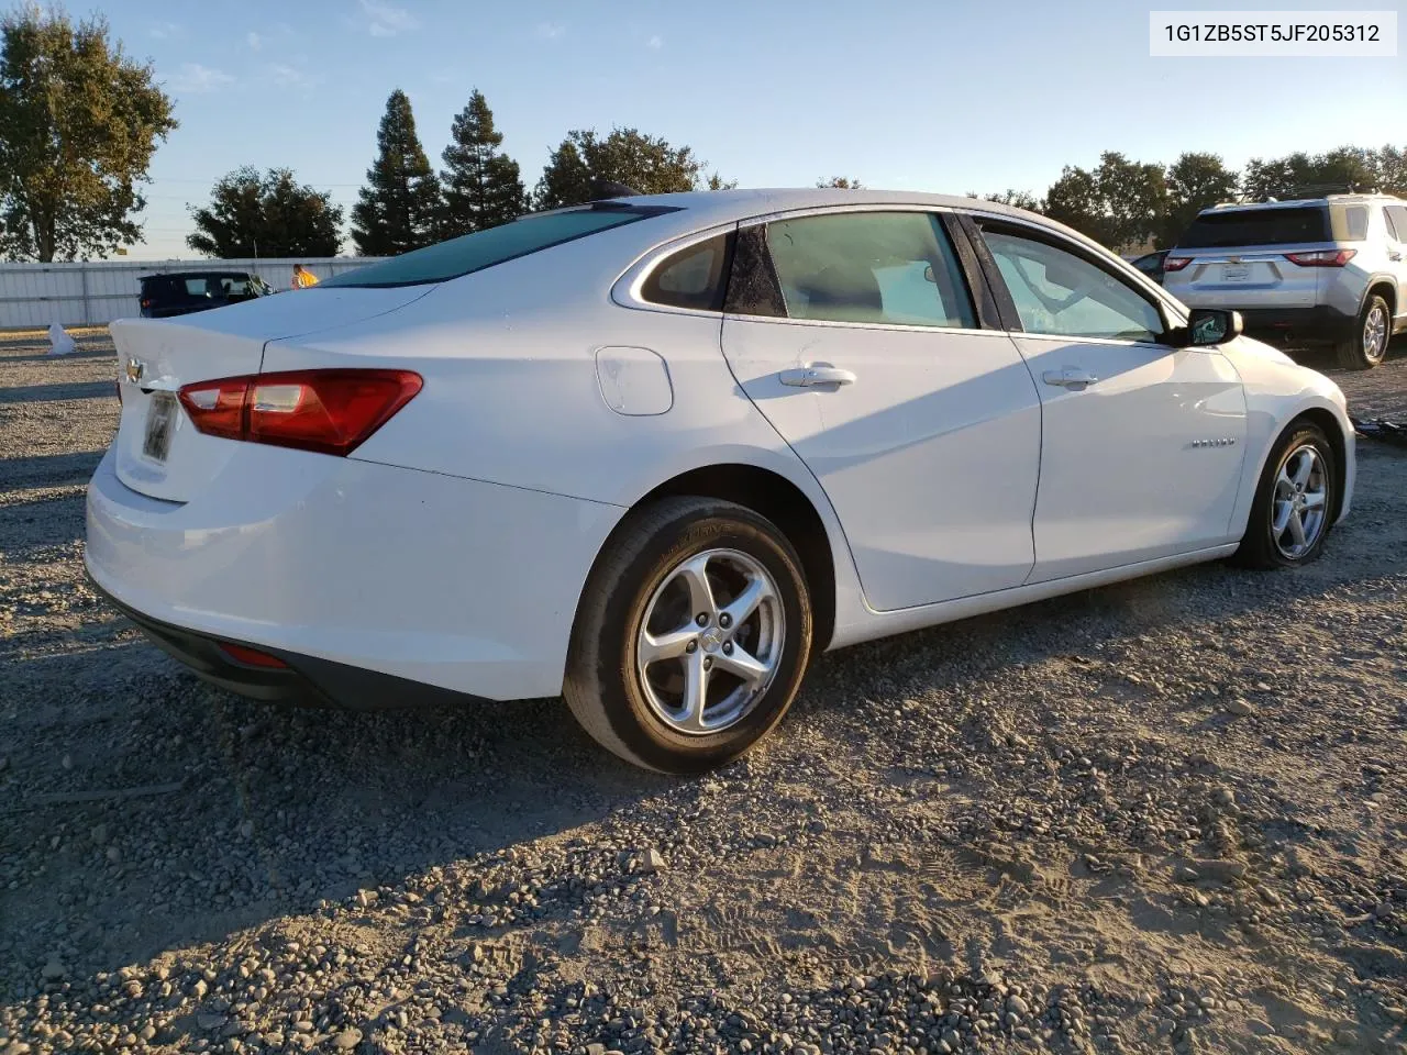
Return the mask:
[[975,329],[938,218],[834,212],[767,225],[788,318]]

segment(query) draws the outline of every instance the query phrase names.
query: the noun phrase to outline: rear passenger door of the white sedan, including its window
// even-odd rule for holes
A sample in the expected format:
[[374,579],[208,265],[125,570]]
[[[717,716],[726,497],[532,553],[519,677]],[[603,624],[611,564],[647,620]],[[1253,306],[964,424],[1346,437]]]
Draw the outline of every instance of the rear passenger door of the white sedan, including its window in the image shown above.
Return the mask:
[[1010,338],[978,324],[937,215],[743,225],[723,352],[825,488],[874,609],[1027,577],[1040,397]]

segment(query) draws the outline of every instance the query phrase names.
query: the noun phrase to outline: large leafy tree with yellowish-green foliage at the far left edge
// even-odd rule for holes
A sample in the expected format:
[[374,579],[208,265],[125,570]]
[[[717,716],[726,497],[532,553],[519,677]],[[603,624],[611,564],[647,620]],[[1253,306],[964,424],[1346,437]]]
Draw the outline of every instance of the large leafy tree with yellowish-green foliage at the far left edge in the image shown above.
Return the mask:
[[0,250],[44,263],[106,257],[141,238],[136,186],[172,100],[94,17],[14,11],[0,21]]

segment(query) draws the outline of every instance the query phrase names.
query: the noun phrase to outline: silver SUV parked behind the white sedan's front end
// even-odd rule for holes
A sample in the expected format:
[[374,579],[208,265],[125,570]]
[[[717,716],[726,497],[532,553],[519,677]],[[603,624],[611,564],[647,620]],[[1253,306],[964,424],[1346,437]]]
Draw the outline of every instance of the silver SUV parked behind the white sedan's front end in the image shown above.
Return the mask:
[[1407,329],[1407,203],[1386,194],[1203,210],[1168,250],[1164,287],[1192,308],[1233,308],[1245,332],[1328,346],[1341,367],[1383,362]]

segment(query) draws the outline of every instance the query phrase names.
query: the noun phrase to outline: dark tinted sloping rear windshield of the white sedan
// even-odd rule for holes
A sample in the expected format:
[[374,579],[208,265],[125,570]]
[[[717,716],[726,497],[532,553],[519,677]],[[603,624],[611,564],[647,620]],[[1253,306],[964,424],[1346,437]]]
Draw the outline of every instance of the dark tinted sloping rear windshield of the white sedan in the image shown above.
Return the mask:
[[585,208],[529,214],[487,231],[476,231],[424,249],[412,249],[390,260],[357,267],[336,279],[328,279],[322,286],[384,287],[449,281],[563,242],[675,211],[664,205],[599,201]]

